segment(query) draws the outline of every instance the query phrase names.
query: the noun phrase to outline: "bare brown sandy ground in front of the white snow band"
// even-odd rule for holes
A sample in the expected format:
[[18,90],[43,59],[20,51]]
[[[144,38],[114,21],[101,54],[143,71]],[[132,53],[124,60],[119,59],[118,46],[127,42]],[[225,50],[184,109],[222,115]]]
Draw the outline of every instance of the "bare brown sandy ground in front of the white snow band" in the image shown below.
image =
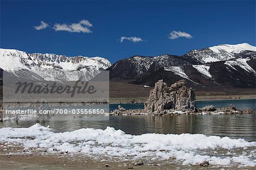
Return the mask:
[[254,169],[253,167],[216,167],[209,165],[188,166],[175,162],[175,159],[148,161],[146,159],[136,160],[143,162],[143,165],[134,165],[132,160],[124,160],[125,157],[98,157],[92,159],[88,155],[56,153],[49,154],[44,150],[30,150],[27,152],[23,147],[0,143],[0,146],[7,145],[5,150],[0,148],[0,169]]

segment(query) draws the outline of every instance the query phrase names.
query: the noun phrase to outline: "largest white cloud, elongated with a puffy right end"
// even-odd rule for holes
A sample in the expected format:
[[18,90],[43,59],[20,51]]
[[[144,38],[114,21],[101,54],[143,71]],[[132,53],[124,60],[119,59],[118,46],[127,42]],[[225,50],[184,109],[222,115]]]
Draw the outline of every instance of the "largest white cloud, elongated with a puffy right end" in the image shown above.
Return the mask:
[[92,27],[93,25],[89,22],[89,20],[82,19],[79,23],[72,23],[72,24],[59,24],[56,23],[53,26],[55,31],[68,31],[68,32],[83,32],[83,33],[90,33],[88,27]]

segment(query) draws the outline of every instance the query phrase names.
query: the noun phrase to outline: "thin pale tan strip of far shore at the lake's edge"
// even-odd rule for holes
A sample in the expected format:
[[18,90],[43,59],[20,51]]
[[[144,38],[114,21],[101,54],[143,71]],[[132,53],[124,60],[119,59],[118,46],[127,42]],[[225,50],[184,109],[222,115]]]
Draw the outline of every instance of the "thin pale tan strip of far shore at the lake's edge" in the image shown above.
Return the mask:
[[[120,97],[110,98],[110,104],[130,104],[144,103],[148,97]],[[225,101],[225,100],[240,100],[240,99],[256,99],[256,94],[251,95],[212,95],[212,96],[196,96],[196,101]]]

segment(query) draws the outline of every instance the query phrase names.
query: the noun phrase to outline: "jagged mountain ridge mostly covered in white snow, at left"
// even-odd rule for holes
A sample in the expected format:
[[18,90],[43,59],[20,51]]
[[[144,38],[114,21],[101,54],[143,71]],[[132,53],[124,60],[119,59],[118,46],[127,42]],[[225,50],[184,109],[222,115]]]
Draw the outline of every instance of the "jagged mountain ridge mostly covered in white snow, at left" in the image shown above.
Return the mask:
[[67,57],[0,49],[0,68],[17,77],[29,76],[34,80],[86,81],[110,65],[110,62],[102,57]]

